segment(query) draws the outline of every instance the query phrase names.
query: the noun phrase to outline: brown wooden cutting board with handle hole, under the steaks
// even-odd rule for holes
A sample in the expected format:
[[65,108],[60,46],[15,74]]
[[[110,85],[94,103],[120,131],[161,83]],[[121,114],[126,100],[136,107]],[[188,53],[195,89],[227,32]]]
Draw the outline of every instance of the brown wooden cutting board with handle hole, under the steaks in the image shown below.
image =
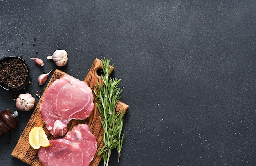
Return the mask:
[[[99,75],[97,74],[97,71],[101,70],[101,63],[102,61],[99,59],[95,59],[92,67],[90,68],[87,76],[85,77],[84,82],[87,83],[88,86],[94,88],[94,85],[97,85],[96,81],[99,81],[99,83],[101,83],[101,85],[103,84],[103,81],[100,79]],[[114,68],[112,68],[113,71]],[[112,72],[111,71],[111,72]],[[15,148],[13,149],[13,152],[11,153],[11,155],[13,157],[16,157],[20,160],[22,160],[23,162],[26,162],[27,164],[30,164],[32,166],[43,166],[43,164],[39,161],[38,158],[38,150],[33,149],[30,145],[29,145],[29,131],[33,128],[33,127],[40,127],[42,126],[43,129],[45,130],[45,133],[47,135],[47,137],[49,139],[55,139],[56,137],[52,136],[50,134],[50,131],[48,131],[46,129],[46,125],[45,122],[43,122],[41,114],[40,114],[40,105],[43,99],[43,96],[45,94],[45,92],[47,91],[48,87],[56,80],[61,78],[64,74],[66,74],[65,72],[62,72],[58,69],[56,69],[54,71],[54,74],[52,75],[52,78],[49,80],[49,83],[42,95],[42,97],[40,98],[38,104],[36,105],[36,108],[33,112],[33,114],[31,115],[31,118],[29,119],[29,122],[27,123],[27,126],[25,127],[23,133],[20,136],[20,139],[18,140]],[[71,120],[70,123],[67,125],[67,131],[70,131],[72,129],[72,127],[74,125],[77,124],[88,124],[88,126],[90,127],[90,131],[93,133],[93,135],[96,138],[97,141],[97,151],[96,154],[94,156],[94,159],[92,160],[92,162],[90,163],[90,166],[98,166],[99,162],[101,161],[102,155],[97,155],[98,152],[101,150],[101,148],[103,147],[103,140],[102,140],[102,136],[101,136],[101,131],[103,131],[101,122],[100,122],[100,113],[97,109],[97,106],[94,102],[94,111],[92,112],[92,114],[86,118],[85,120]],[[118,105],[117,105],[117,111],[121,112],[123,109],[126,112],[126,110],[128,109],[128,105],[122,103],[121,101],[119,101]],[[61,137],[58,137],[61,138]]]

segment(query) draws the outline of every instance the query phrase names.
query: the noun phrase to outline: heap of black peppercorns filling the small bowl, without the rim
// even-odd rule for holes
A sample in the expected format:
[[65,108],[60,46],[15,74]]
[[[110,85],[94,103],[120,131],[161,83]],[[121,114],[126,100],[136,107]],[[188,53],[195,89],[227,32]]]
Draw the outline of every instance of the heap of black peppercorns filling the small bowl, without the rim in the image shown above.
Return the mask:
[[15,89],[24,85],[28,77],[28,68],[20,59],[7,59],[0,64],[0,83]]

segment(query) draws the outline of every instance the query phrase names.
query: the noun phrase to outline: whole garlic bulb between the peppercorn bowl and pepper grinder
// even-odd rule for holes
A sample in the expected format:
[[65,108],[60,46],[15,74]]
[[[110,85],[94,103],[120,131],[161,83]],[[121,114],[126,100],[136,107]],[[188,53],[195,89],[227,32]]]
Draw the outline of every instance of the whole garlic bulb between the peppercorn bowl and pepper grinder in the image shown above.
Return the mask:
[[20,94],[16,99],[16,108],[20,111],[29,111],[34,108],[35,98],[31,94]]

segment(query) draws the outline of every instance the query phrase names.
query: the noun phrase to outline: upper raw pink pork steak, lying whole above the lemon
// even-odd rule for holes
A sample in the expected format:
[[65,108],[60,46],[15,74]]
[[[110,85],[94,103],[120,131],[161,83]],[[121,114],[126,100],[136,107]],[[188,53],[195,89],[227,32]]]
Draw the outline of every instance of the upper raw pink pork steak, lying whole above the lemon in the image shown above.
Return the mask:
[[85,119],[94,108],[92,89],[72,76],[64,75],[49,86],[41,103],[41,115],[55,137],[65,135],[71,119]]

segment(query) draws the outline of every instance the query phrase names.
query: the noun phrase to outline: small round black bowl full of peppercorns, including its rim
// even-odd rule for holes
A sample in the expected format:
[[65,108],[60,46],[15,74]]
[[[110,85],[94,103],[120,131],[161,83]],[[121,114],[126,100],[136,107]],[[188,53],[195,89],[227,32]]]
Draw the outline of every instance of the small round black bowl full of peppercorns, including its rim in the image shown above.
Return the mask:
[[30,80],[28,64],[20,57],[4,57],[0,60],[0,86],[5,90],[22,90]]

